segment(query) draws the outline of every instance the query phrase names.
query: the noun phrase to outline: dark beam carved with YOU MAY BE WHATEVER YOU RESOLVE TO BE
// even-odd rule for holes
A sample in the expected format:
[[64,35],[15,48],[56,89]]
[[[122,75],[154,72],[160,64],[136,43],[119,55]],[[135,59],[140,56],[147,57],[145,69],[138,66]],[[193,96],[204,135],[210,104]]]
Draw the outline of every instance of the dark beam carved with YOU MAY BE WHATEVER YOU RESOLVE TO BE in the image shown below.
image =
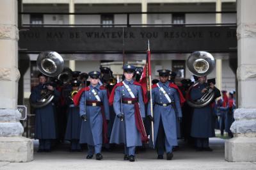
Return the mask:
[[230,52],[236,27],[29,27],[20,31],[20,49],[58,52]]

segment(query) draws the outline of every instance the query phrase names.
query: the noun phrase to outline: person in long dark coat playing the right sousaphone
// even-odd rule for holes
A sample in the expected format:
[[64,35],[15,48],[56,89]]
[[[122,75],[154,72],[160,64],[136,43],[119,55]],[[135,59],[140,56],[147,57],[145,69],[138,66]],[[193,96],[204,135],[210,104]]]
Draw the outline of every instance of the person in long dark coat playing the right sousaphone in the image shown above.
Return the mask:
[[[207,87],[214,90],[214,97],[220,97],[220,90],[217,89],[211,82],[209,85],[206,83],[206,76],[198,77],[198,84],[193,86],[190,91],[192,100],[198,100],[207,91]],[[214,102],[214,101],[212,101]],[[212,107],[211,104],[205,107],[194,108],[191,126],[191,136],[195,137],[195,144],[197,151],[212,151],[209,147],[209,137],[214,137],[214,126],[212,125]]]

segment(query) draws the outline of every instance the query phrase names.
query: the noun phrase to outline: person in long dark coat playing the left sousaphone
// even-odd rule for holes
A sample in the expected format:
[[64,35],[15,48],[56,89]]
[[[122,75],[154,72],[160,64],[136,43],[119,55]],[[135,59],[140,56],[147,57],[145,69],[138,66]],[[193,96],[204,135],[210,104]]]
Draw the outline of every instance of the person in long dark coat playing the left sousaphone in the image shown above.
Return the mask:
[[31,91],[31,102],[36,103],[44,91],[52,91],[54,99],[44,107],[36,108],[35,139],[39,139],[38,152],[51,151],[51,141],[56,139],[55,107],[54,101],[58,101],[60,92],[50,84],[46,84],[47,76],[40,73],[38,75],[39,84]]

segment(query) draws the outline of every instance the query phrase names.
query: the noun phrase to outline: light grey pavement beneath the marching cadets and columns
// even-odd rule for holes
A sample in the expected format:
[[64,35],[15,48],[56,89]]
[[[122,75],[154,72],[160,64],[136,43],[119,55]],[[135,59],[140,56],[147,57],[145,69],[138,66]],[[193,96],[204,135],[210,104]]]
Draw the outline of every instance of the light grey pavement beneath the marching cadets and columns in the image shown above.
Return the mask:
[[[183,141],[179,141],[179,150],[173,152],[173,160],[157,160],[156,151],[147,148],[138,151],[136,161],[123,160],[122,147],[113,151],[102,151],[103,160],[86,160],[86,151],[69,152],[64,144],[51,153],[36,153],[38,141],[35,141],[34,160],[31,162],[0,162],[0,169],[256,169],[256,162],[227,162],[224,156],[225,140],[210,139],[213,151],[195,151]],[[166,158],[166,155],[164,155]]]

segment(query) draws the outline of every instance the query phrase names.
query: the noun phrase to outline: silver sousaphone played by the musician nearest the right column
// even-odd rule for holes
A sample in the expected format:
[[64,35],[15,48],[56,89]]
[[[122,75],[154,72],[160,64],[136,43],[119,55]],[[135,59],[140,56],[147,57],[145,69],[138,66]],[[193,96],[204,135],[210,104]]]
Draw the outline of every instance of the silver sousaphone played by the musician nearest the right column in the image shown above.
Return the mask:
[[[212,72],[215,66],[215,61],[213,56],[209,52],[196,51],[189,56],[187,60],[187,66],[191,73],[198,77],[202,77]],[[191,88],[193,88],[193,86],[196,86],[197,84],[198,82],[195,82],[195,84],[193,84]],[[191,88],[189,89],[188,93],[190,93]],[[196,101],[187,100],[187,103],[191,107],[200,108],[210,104],[213,99],[214,91],[213,89],[207,87],[207,91],[201,98]]]

